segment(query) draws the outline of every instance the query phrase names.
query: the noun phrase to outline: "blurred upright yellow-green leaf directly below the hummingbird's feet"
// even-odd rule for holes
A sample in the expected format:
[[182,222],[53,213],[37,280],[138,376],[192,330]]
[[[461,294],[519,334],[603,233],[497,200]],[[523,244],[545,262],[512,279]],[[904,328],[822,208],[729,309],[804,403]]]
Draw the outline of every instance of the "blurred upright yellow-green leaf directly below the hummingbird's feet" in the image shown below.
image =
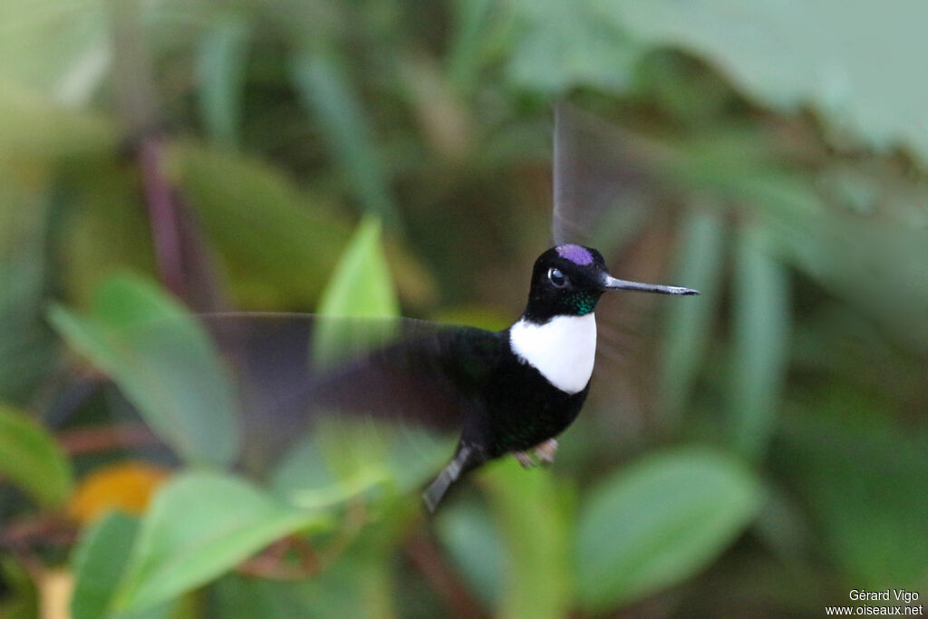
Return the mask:
[[507,458],[482,473],[506,544],[501,617],[563,617],[573,598],[572,494],[548,471],[524,471]]

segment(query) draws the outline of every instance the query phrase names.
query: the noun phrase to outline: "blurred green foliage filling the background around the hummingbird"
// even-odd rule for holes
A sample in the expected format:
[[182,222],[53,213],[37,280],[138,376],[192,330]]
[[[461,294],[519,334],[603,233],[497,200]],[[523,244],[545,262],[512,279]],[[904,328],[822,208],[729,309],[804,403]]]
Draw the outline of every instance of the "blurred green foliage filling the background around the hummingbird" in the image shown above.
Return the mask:
[[[7,0],[0,615],[928,595],[926,11]],[[612,272],[702,297],[600,303],[553,470],[496,463],[429,520],[445,441],[324,428],[238,467],[235,385],[185,304],[499,328],[547,247],[561,97],[642,171],[599,229]]]

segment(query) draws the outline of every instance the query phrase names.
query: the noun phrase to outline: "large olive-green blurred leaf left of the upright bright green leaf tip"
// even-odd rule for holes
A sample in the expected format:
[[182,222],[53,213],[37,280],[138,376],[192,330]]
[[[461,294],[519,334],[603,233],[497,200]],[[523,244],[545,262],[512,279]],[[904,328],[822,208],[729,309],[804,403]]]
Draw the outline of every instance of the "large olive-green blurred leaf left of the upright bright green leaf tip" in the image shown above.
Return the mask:
[[262,161],[189,143],[168,157],[245,305],[315,303],[351,235],[346,221]]

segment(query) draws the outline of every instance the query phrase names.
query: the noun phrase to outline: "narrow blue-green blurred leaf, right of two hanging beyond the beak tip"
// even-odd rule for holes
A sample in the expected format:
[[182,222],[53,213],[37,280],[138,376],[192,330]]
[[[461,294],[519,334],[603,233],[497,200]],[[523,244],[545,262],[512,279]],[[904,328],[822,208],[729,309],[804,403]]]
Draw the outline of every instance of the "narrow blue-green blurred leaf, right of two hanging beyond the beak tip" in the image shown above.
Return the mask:
[[757,228],[741,229],[736,256],[731,438],[739,453],[759,458],[773,430],[786,376],[790,289],[785,269]]

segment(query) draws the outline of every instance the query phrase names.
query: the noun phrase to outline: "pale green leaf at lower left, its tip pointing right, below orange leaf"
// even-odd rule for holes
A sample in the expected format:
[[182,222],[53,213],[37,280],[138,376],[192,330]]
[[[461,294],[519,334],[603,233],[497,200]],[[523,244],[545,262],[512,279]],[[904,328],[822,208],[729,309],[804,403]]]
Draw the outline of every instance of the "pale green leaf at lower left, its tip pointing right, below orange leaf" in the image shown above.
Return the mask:
[[280,537],[325,522],[229,475],[179,475],[142,519],[113,608],[138,612],[171,600]]

